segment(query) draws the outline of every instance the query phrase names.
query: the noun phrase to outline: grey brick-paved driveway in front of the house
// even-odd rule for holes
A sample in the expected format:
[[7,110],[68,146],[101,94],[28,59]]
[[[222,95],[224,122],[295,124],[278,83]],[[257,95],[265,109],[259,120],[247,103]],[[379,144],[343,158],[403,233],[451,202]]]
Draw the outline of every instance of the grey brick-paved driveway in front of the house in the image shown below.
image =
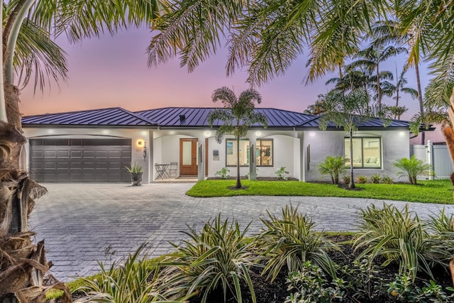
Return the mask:
[[[36,240],[45,239],[52,274],[62,281],[99,271],[97,261],[109,263],[150,243],[151,256],[172,250],[187,225],[200,228],[219,213],[235,218],[241,226],[251,220],[250,232],[259,231],[266,211],[280,214],[286,204],[314,217],[318,229],[353,231],[358,209],[371,199],[336,197],[221,197],[193,198],[185,193],[193,184],[44,184],[49,193],[38,199],[30,225]],[[402,208],[405,202],[391,202]],[[410,203],[421,219],[437,213],[440,204]],[[450,212],[454,205],[446,206]]]

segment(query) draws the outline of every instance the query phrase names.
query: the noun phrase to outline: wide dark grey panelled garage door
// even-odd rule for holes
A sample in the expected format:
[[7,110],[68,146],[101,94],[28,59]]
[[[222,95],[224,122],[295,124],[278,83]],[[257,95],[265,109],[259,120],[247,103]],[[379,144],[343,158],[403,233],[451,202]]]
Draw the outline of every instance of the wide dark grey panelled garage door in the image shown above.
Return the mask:
[[31,139],[38,182],[131,182],[131,139]]

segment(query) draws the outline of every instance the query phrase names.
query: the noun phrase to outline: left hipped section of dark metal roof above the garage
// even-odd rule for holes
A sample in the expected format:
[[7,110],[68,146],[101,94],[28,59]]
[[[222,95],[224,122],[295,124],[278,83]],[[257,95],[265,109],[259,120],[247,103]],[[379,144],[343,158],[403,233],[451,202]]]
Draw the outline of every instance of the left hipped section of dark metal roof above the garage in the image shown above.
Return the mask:
[[121,107],[25,116],[22,124],[50,126],[153,126],[153,121]]

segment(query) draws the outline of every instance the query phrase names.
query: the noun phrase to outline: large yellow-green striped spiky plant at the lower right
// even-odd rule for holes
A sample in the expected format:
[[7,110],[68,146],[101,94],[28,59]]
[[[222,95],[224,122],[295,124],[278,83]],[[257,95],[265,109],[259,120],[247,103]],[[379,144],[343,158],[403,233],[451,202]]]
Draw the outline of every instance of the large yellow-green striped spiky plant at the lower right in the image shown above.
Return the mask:
[[362,249],[358,258],[382,256],[382,265],[397,263],[399,273],[411,272],[413,279],[421,270],[433,277],[433,265],[445,267],[445,261],[452,257],[453,241],[431,236],[408,204],[401,211],[389,204],[383,204],[382,209],[368,206],[361,210],[358,227],[360,233],[354,242],[356,250]]

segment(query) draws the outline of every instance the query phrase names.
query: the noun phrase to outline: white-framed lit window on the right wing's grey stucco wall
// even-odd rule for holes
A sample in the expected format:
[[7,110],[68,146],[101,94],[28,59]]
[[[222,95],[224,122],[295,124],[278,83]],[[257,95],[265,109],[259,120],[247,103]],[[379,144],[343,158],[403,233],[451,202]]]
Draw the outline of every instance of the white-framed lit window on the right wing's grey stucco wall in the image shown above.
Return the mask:
[[[381,138],[353,138],[353,167],[382,167]],[[345,138],[345,166],[350,167],[350,138]]]

